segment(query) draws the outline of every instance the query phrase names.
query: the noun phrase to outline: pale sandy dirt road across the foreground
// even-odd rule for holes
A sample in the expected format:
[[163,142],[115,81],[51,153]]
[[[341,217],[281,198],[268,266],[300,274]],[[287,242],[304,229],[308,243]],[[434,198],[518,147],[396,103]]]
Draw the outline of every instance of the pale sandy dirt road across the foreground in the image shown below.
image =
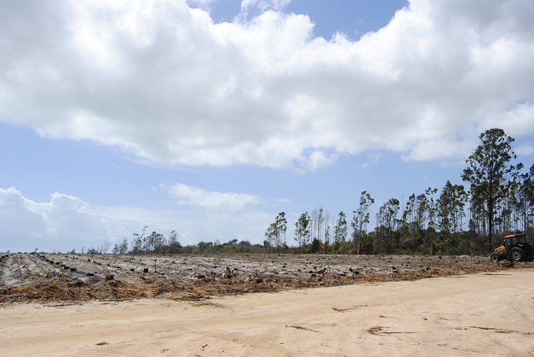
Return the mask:
[[0,307],[0,356],[533,356],[534,269]]

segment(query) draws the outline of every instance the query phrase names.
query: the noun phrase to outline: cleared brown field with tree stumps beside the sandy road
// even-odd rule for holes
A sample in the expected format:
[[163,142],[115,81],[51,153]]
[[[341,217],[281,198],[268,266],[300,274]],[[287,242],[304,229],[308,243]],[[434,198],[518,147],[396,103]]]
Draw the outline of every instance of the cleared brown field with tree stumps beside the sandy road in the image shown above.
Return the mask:
[[414,281],[534,267],[501,267],[480,256],[8,254],[0,259],[0,303],[200,300],[247,292]]

